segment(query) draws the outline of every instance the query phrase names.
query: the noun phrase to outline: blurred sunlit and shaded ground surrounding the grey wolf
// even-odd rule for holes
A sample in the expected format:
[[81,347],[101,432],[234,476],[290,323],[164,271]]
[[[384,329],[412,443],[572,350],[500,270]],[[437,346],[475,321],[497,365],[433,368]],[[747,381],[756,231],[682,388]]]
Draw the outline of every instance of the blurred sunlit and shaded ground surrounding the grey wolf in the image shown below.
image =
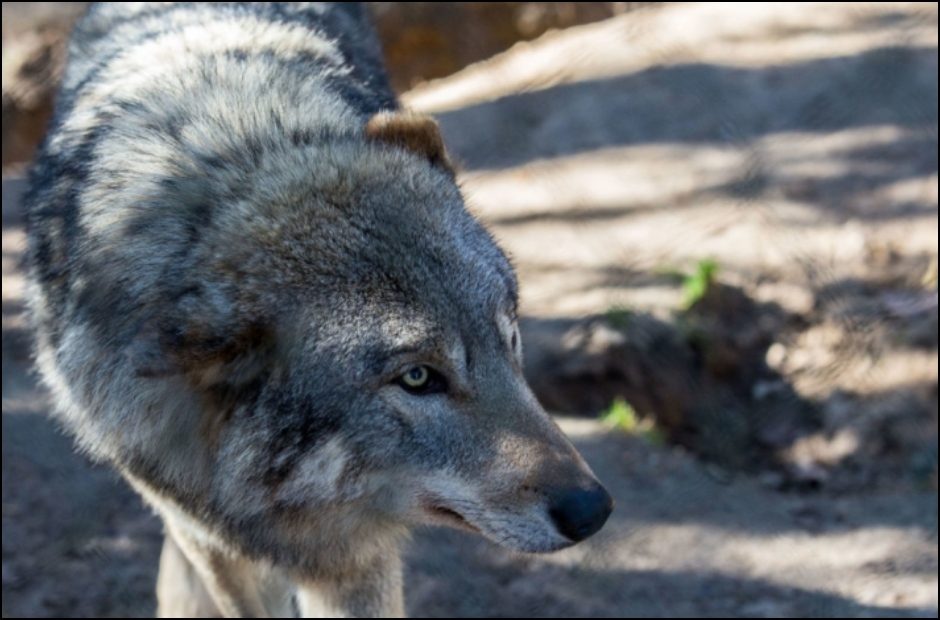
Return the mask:
[[[146,616],[160,524],[44,415],[18,195],[83,3],[3,3],[3,615]],[[374,3],[615,496],[444,530],[414,616],[937,616],[937,4]]]

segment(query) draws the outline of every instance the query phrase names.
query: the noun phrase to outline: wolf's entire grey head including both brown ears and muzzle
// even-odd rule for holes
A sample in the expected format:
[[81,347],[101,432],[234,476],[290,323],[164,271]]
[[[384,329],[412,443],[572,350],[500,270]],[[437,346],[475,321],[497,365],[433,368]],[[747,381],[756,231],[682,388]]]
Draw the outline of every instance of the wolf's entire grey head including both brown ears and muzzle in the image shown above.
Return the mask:
[[523,378],[515,275],[433,121],[385,114],[304,152],[257,162],[251,216],[220,216],[202,254],[220,284],[178,303],[201,318],[174,326],[174,363],[223,412],[204,425],[216,503],[298,544],[314,514],[530,552],[594,534],[611,498]]

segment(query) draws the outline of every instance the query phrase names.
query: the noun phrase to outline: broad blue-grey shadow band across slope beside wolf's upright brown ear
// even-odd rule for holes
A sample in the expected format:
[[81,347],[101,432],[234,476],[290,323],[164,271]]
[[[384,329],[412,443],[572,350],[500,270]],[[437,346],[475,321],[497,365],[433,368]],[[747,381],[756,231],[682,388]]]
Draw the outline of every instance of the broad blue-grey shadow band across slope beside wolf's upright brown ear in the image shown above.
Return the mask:
[[[449,148],[469,170],[610,146],[740,146],[773,133],[865,126],[923,129],[935,145],[936,69],[935,47],[906,46],[760,68],[657,66],[516,93],[438,118]],[[547,131],[557,129],[560,110],[568,128],[563,143]],[[714,118],[703,122],[703,110]]]

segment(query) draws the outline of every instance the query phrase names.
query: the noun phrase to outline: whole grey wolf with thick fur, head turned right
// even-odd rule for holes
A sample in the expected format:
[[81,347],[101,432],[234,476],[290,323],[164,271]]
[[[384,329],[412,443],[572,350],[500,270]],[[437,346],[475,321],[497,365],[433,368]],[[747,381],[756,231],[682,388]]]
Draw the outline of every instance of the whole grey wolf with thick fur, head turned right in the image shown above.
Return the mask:
[[550,552],[610,514],[362,6],[92,6],[25,204],[37,366],[163,520],[160,615],[400,616],[416,526]]

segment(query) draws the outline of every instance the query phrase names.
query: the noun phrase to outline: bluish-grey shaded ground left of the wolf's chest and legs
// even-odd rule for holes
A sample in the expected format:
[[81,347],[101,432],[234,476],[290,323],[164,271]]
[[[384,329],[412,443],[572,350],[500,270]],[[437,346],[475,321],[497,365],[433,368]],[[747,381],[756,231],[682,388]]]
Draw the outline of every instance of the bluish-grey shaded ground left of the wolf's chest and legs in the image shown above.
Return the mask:
[[4,615],[151,616],[160,522],[76,452],[48,407],[38,390],[4,387]]

